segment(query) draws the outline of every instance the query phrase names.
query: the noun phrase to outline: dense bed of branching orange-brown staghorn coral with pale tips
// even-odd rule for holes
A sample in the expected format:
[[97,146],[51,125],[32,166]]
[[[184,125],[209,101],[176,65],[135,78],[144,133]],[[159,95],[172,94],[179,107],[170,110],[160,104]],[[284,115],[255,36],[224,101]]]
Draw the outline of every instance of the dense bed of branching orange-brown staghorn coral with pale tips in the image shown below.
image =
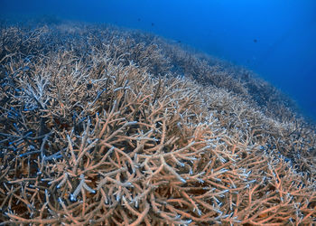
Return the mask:
[[315,223],[315,130],[252,72],[105,25],[0,36],[0,225]]

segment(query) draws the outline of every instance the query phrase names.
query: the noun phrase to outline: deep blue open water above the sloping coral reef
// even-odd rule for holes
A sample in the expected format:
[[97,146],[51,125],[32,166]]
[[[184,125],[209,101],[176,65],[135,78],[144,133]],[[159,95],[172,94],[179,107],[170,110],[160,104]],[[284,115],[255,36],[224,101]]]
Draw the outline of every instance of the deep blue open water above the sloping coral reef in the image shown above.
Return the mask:
[[54,14],[189,44],[255,71],[316,120],[315,0],[0,0],[0,14]]

